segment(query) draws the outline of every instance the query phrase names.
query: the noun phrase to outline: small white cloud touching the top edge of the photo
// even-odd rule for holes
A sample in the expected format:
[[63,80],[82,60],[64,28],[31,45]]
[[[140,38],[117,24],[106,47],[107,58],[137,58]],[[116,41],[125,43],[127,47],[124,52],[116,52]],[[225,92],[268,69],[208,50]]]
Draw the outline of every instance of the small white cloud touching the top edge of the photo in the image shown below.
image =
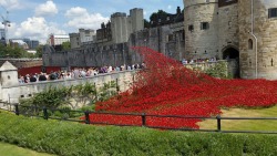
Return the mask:
[[59,11],[58,11],[57,6],[53,1],[47,1],[45,3],[38,6],[34,10],[34,12],[35,12],[35,15],[43,17],[43,15],[54,15]]

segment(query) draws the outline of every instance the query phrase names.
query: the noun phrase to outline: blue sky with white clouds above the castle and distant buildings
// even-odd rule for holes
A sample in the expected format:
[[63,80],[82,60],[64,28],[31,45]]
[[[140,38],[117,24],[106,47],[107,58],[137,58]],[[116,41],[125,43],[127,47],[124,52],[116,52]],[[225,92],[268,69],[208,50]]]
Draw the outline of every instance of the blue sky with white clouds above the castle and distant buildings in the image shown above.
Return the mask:
[[130,9],[142,8],[144,18],[148,19],[158,9],[175,13],[176,8],[183,9],[184,4],[183,0],[0,0],[0,14],[4,18],[6,10],[9,11],[9,39],[30,38],[44,43],[50,33],[99,29],[114,12],[129,14]]

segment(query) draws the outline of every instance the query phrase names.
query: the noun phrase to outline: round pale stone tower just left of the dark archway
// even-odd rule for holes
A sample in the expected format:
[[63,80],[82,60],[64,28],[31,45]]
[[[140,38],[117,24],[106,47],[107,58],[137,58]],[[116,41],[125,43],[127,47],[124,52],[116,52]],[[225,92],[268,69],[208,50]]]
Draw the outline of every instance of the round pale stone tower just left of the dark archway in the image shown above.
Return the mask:
[[184,0],[185,53],[188,59],[218,55],[218,0]]

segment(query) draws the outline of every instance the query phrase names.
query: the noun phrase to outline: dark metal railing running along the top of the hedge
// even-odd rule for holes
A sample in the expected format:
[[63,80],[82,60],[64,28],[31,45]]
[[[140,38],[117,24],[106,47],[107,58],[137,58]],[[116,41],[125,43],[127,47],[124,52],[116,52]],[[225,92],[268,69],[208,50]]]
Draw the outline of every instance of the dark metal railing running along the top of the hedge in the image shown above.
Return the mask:
[[[223,117],[217,115],[215,117],[206,117],[206,116],[184,116],[184,115],[153,115],[145,113],[110,113],[110,112],[90,112],[90,111],[65,111],[65,110],[55,110],[55,108],[47,108],[47,107],[37,107],[37,106],[22,106],[20,104],[8,104],[7,111],[13,112],[16,115],[27,115],[27,116],[37,116],[42,117],[44,119],[62,119],[69,122],[79,122],[85,124],[94,124],[94,125],[114,125],[114,126],[143,126],[148,128],[158,128],[158,129],[171,129],[171,131],[195,131],[195,132],[216,132],[216,133],[257,133],[257,134],[277,134],[277,129],[274,131],[223,131],[222,122],[223,121],[276,121],[277,117]],[[1,106],[0,106],[1,107]],[[72,116],[54,116],[52,115],[54,112],[75,114]],[[90,119],[90,114],[104,114],[104,115],[124,115],[124,116],[140,116],[141,124],[140,125],[130,125],[130,124],[112,124],[105,122],[93,122]],[[84,119],[80,119],[83,116]],[[78,118],[76,118],[78,117]],[[147,125],[147,118],[156,117],[156,118],[183,118],[183,119],[213,119],[216,121],[215,129],[201,129],[201,128],[175,128],[175,127],[164,127],[164,126],[151,126]]]

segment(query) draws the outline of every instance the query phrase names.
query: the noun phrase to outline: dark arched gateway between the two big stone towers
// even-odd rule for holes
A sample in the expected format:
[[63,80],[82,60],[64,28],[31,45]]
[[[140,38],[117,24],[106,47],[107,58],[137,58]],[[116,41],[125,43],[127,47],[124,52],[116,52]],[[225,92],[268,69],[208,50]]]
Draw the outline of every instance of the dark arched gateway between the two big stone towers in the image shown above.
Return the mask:
[[229,72],[232,73],[233,77],[240,77],[239,71],[239,51],[235,46],[227,46],[222,51],[222,59],[227,60],[228,64],[232,66],[229,67]]

